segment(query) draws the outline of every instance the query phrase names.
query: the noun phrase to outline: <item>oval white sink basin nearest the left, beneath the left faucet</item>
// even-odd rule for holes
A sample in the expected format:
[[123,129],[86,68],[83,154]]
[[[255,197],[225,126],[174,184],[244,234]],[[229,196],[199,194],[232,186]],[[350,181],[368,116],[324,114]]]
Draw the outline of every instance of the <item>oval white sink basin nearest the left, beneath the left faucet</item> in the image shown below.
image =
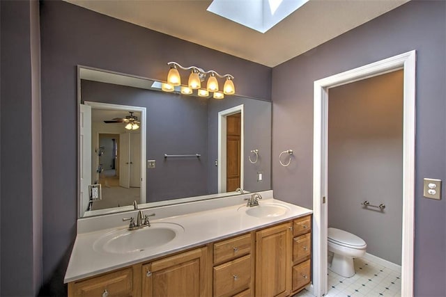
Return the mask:
[[126,254],[158,248],[174,240],[184,228],[174,223],[152,223],[138,230],[113,230],[98,238],[93,249],[100,252]]

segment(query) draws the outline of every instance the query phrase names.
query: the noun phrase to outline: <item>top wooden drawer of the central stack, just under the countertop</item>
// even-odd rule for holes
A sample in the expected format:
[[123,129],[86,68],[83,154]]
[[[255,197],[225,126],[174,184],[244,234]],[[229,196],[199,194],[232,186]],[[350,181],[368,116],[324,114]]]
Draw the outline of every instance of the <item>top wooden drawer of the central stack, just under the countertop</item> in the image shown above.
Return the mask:
[[235,259],[251,252],[251,234],[214,243],[214,264]]

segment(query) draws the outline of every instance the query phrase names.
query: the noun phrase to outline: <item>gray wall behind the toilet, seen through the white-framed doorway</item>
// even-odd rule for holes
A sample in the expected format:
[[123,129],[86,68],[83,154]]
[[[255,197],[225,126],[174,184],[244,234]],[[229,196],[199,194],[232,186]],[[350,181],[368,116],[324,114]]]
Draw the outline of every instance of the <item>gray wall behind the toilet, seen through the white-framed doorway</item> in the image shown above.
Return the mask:
[[[328,226],[401,265],[403,71],[328,91]],[[361,203],[384,203],[384,211]]]

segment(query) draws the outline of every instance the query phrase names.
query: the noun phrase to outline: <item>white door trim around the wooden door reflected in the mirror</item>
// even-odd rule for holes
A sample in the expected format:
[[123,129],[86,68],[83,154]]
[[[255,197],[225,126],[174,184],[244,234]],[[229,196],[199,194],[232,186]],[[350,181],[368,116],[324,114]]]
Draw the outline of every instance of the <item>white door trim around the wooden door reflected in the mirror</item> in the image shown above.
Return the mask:
[[243,104],[231,107],[218,113],[218,159],[217,159],[217,180],[218,192],[226,192],[226,117],[240,113],[240,188],[243,188],[244,177],[244,148],[245,148],[245,120]]

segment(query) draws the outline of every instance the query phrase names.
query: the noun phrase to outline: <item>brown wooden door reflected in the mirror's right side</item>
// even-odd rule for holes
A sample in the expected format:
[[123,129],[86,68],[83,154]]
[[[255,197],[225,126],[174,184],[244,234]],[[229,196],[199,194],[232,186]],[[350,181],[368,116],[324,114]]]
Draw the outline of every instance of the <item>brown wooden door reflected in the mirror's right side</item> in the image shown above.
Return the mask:
[[226,117],[226,191],[240,188],[241,113]]

